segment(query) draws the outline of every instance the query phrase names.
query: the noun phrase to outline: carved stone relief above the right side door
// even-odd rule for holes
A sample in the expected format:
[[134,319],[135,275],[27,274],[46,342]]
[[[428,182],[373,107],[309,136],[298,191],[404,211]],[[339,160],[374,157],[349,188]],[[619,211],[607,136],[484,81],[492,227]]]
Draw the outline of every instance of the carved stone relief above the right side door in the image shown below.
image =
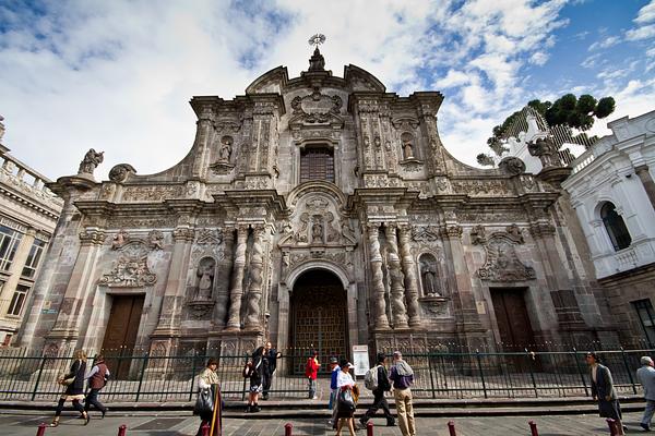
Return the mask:
[[487,252],[485,265],[478,269],[480,279],[504,282],[536,278],[535,269],[519,261],[514,244],[515,242],[509,235],[499,233],[491,235],[485,245]]

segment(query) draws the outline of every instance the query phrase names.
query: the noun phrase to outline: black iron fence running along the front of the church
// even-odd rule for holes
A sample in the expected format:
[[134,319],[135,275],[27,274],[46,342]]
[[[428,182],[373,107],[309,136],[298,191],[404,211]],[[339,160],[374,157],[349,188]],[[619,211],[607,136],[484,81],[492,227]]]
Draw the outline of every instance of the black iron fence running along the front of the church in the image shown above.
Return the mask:
[[[635,379],[642,355],[655,350],[607,350],[602,352],[620,395],[641,393]],[[525,351],[493,352],[422,352],[406,353],[404,359],[414,368],[413,392],[418,398],[538,398],[588,397],[590,372],[585,352]],[[217,367],[224,398],[242,400],[249,380],[241,371],[249,356],[219,356]],[[271,385],[275,399],[307,398],[307,380],[294,375],[294,366],[305,361],[307,353],[283,352]],[[206,358],[188,355],[155,356],[110,355],[106,360],[114,373],[103,390],[107,402],[187,402],[194,398],[196,376]],[[0,353],[0,400],[56,401],[63,388],[57,384],[72,364],[72,356],[34,355],[21,349]],[[90,359],[87,368],[91,370]],[[326,366],[326,362],[323,362]],[[359,377],[364,385],[362,377]],[[319,396],[327,398],[327,375],[319,379]],[[366,395],[370,395],[362,389]]]

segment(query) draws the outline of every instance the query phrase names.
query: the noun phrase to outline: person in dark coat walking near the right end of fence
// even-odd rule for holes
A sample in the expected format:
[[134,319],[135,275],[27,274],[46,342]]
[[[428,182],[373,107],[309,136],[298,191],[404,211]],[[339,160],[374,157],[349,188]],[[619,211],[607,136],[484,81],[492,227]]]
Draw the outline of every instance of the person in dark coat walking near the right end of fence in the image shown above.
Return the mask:
[[586,363],[590,366],[592,378],[592,398],[598,401],[598,413],[603,417],[611,417],[617,423],[619,435],[623,435],[623,424],[621,422],[621,404],[617,390],[614,387],[614,380],[609,368],[600,364],[598,354],[588,352]]

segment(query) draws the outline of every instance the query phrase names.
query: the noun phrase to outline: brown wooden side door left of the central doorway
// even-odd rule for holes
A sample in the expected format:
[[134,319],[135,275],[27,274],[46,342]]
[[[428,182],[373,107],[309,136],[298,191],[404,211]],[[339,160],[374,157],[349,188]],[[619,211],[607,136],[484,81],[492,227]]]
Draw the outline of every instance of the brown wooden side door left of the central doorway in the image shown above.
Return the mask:
[[[130,371],[130,356],[136,343],[144,295],[114,295],[109,322],[103,340],[107,366],[117,378],[126,378]],[[114,359],[111,359],[114,358]]]

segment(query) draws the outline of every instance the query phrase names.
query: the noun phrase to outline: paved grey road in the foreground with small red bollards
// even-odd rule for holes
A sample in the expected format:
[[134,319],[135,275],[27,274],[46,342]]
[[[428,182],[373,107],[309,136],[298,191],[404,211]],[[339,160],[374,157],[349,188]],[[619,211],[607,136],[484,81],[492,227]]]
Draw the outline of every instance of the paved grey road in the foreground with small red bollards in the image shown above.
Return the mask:
[[[628,434],[641,434],[639,427],[640,413],[627,413],[626,424]],[[40,422],[49,423],[52,415],[40,412],[0,411],[0,435],[34,436]],[[502,417],[461,417],[454,419],[457,436],[513,436],[529,435],[527,422],[537,422],[540,436],[590,436],[608,435],[609,431],[603,419],[597,415],[564,415],[564,416],[502,416]],[[446,436],[448,419],[419,417],[417,428],[419,435]],[[286,420],[261,419],[229,419],[225,423],[225,436],[283,436]],[[128,436],[187,436],[194,435],[198,429],[198,419],[189,413],[148,413],[138,415],[107,415],[105,420],[94,419],[88,426],[72,414],[64,415],[57,428],[47,428],[46,436],[115,436],[118,426],[128,426]],[[294,435],[334,435],[324,420],[294,420]],[[374,419],[374,424],[383,425],[383,419]],[[365,436],[365,431],[358,431],[358,436]],[[347,432],[344,432],[347,435]],[[376,436],[401,436],[398,427],[374,427]]]

